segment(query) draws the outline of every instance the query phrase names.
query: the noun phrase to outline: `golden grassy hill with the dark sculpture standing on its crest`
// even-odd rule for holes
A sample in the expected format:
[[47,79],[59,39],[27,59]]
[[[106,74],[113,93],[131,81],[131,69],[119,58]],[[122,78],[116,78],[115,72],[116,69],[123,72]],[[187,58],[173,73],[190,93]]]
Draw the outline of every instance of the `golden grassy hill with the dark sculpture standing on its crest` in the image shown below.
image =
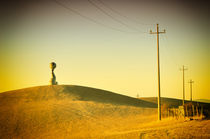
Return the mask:
[[82,86],[0,93],[0,138],[98,138],[156,120],[157,105]]

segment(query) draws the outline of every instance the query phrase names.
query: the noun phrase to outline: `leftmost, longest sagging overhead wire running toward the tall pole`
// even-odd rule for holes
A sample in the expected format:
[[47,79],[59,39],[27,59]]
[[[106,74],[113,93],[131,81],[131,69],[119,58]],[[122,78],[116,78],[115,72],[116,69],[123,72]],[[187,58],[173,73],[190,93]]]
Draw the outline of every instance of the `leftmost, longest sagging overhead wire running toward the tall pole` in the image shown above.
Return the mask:
[[79,15],[79,16],[82,17],[82,18],[85,18],[86,20],[89,20],[89,21],[91,21],[91,22],[93,22],[93,23],[95,23],[95,24],[101,25],[101,26],[106,27],[106,28],[109,28],[109,29],[111,29],[111,30],[118,31],[118,32],[123,32],[123,33],[132,33],[132,34],[143,33],[143,32],[137,32],[137,31],[135,31],[135,32],[134,32],[134,31],[125,31],[125,30],[121,30],[121,29],[119,29],[119,28],[115,28],[115,27],[112,27],[112,26],[103,24],[103,23],[98,22],[97,20],[95,20],[95,19],[93,19],[93,18],[90,18],[90,17],[88,17],[88,16],[85,16],[85,15],[81,14],[80,12],[78,12],[78,11],[76,11],[76,10],[74,10],[74,9],[72,9],[72,8],[70,8],[70,7],[68,7],[68,6],[66,6],[66,5],[64,5],[63,3],[61,3],[61,2],[59,2],[59,1],[57,1],[57,0],[52,0],[52,1],[55,2],[56,4],[60,5],[61,7],[67,9],[68,11],[70,11],[70,12],[72,12],[72,13],[75,13],[75,14]]

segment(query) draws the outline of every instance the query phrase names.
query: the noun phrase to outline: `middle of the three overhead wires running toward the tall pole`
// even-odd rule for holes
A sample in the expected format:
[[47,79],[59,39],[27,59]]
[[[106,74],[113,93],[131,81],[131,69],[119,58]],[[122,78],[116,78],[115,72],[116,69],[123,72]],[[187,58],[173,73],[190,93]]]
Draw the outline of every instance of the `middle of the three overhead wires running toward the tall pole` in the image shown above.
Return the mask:
[[[102,9],[100,6],[98,6],[97,4],[95,4],[94,2],[92,2],[91,0],[87,0],[88,2],[90,2],[94,7],[96,7],[98,10],[100,10],[102,13],[104,13],[105,15],[107,15],[108,17],[110,17],[111,19],[113,19],[114,21],[120,23],[121,25],[124,25],[128,28],[132,28],[134,30],[138,30],[138,28],[132,27],[130,25],[125,24],[124,22],[122,22],[121,20],[115,18],[114,16],[112,16],[111,14],[109,14],[108,12],[106,12],[104,9]],[[138,30],[139,32],[145,33],[143,31]]]

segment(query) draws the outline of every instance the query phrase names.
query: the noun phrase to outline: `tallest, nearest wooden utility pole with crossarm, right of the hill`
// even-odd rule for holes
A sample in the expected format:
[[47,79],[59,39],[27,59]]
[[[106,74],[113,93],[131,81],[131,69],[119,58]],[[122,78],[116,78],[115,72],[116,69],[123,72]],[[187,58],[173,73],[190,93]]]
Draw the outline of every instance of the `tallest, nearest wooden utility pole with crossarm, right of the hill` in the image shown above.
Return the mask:
[[160,97],[160,54],[159,54],[159,34],[166,33],[164,29],[162,32],[159,32],[159,24],[157,24],[157,32],[152,32],[150,34],[157,34],[157,65],[158,65],[158,120],[161,120],[161,97]]

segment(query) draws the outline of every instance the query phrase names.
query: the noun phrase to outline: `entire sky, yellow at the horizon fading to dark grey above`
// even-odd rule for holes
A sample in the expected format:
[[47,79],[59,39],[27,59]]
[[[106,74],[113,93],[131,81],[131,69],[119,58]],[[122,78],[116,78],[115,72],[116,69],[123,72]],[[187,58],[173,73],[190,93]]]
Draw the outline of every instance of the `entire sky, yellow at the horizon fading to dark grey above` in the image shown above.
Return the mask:
[[58,84],[136,97],[157,96],[160,31],[161,96],[182,98],[185,65],[193,99],[210,99],[210,43],[205,1],[8,1],[0,14],[0,92]]

